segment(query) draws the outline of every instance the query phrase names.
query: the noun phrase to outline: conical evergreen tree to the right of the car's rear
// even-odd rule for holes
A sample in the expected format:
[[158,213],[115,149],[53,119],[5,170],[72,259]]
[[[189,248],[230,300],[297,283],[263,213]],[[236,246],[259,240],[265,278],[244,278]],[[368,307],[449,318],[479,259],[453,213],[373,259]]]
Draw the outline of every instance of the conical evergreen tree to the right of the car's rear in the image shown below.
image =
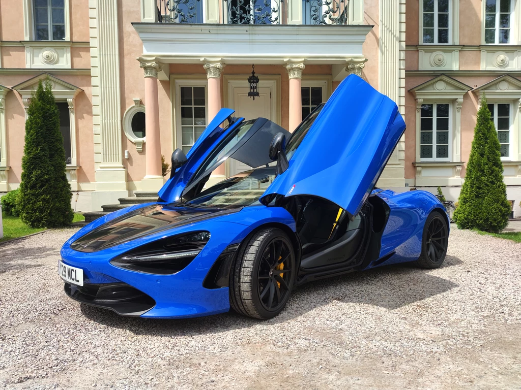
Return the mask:
[[483,96],[454,220],[460,229],[498,232],[508,224],[508,214],[498,134]]

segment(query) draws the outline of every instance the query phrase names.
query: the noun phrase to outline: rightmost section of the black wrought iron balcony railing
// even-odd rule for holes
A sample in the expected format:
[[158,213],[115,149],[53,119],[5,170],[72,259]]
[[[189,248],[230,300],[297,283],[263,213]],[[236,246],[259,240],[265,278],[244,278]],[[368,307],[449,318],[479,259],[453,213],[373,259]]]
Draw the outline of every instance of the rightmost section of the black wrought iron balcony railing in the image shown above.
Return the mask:
[[349,0],[303,0],[303,24],[348,24]]

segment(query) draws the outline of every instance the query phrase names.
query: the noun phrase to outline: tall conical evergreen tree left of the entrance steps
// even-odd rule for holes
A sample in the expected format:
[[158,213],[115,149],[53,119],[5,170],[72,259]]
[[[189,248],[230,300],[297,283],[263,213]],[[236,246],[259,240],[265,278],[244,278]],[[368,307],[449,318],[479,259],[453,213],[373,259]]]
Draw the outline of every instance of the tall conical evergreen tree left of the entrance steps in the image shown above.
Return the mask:
[[67,180],[65,149],[51,83],[33,90],[27,109],[25,146],[18,206],[20,218],[33,228],[72,222],[72,193]]

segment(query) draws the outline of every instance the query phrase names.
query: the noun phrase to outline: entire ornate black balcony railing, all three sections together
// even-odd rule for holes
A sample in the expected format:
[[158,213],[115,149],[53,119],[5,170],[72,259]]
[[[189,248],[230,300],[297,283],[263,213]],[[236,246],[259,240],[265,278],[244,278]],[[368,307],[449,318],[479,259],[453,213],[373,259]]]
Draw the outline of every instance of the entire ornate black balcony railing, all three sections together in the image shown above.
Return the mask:
[[[349,0],[220,0],[221,23],[287,24],[288,2],[302,2],[302,24],[348,24]],[[204,0],[158,0],[159,23],[204,23]]]

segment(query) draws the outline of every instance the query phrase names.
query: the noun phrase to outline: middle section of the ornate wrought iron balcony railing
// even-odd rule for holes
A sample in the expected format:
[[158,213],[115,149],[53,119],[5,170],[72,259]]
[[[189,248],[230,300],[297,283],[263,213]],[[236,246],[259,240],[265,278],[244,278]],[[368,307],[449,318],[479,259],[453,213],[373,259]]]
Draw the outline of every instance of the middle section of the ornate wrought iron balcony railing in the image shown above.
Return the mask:
[[284,0],[222,0],[222,20],[228,24],[281,24]]

